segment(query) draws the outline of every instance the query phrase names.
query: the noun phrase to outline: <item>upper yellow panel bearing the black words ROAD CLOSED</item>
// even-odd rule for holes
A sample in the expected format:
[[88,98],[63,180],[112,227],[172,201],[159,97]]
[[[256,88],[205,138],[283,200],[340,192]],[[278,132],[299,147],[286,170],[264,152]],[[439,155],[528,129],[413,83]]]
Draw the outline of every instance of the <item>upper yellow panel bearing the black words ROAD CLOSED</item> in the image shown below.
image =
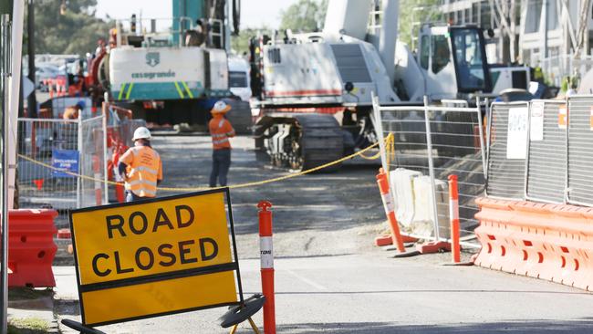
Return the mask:
[[202,197],[201,203],[187,198],[73,214],[81,280],[99,283],[231,262],[224,199],[219,193]]

